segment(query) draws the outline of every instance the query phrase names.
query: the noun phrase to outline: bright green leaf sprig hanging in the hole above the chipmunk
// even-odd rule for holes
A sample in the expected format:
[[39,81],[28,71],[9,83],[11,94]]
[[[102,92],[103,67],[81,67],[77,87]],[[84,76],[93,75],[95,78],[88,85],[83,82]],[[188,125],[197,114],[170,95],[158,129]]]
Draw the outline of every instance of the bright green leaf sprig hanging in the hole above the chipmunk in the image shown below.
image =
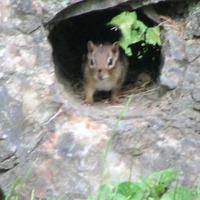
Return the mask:
[[122,37],[119,44],[129,56],[132,55],[130,45],[138,41],[144,41],[144,44],[161,45],[160,27],[146,26],[137,19],[136,12],[122,12],[113,17],[108,24],[115,25],[121,30]]

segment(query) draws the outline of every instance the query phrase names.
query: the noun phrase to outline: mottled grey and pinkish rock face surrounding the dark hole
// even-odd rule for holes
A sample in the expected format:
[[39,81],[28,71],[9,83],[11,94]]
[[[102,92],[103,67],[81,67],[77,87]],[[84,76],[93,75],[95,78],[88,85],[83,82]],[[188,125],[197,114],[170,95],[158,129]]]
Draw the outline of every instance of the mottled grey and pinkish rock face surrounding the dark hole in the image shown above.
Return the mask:
[[[132,9],[155,3],[162,15],[158,83],[135,93],[122,114],[127,97],[118,106],[100,102],[84,107],[66,80],[63,85],[55,79],[58,63],[52,59],[48,31],[58,21],[89,12],[91,5],[104,10],[123,3]],[[196,186],[199,3],[177,4],[183,9],[169,15],[158,0],[0,2],[0,187],[5,193],[17,176],[29,174],[21,199],[29,199],[32,189],[38,199],[87,199],[96,193],[104,168],[108,181],[135,180],[173,167],[181,172],[181,184]]]

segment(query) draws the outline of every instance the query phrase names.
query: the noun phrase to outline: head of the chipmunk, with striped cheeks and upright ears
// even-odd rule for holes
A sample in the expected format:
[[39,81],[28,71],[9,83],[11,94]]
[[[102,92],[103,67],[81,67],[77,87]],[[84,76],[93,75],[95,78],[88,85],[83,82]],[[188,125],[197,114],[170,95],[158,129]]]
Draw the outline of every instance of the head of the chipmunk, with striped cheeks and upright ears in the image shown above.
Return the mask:
[[89,70],[95,80],[109,79],[119,57],[118,43],[96,46],[88,42]]

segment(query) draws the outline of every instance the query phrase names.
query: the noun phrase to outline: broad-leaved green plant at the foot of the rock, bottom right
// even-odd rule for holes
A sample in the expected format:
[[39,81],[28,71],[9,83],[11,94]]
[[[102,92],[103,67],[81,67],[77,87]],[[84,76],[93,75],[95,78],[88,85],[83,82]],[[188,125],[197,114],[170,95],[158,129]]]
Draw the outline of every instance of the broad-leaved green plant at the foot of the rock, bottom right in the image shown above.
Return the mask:
[[175,178],[175,171],[167,169],[141,176],[139,182],[111,181],[100,187],[96,197],[87,200],[195,200],[198,189],[175,186],[169,189]]

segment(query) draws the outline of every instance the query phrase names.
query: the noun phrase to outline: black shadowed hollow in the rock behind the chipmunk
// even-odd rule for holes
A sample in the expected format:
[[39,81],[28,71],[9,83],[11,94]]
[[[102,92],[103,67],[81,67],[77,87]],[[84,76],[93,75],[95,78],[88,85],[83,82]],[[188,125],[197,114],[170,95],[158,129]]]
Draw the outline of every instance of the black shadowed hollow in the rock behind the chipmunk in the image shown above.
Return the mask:
[[[70,83],[75,93],[83,94],[81,65],[83,57],[87,53],[87,42],[89,40],[94,43],[118,41],[121,37],[119,29],[116,30],[106,24],[121,12],[115,8],[71,17],[55,25],[50,31],[49,41],[53,47],[57,77]],[[137,10],[137,16],[138,20],[143,21],[148,27],[156,25],[141,10]],[[125,87],[130,89],[140,84],[156,83],[160,71],[161,47],[144,45],[143,41],[140,41],[132,44],[131,50],[133,55],[128,58],[129,70]],[[143,55],[142,59],[138,59],[139,53]],[[80,89],[81,87],[82,89]],[[100,93],[100,96],[102,94],[104,93]]]

